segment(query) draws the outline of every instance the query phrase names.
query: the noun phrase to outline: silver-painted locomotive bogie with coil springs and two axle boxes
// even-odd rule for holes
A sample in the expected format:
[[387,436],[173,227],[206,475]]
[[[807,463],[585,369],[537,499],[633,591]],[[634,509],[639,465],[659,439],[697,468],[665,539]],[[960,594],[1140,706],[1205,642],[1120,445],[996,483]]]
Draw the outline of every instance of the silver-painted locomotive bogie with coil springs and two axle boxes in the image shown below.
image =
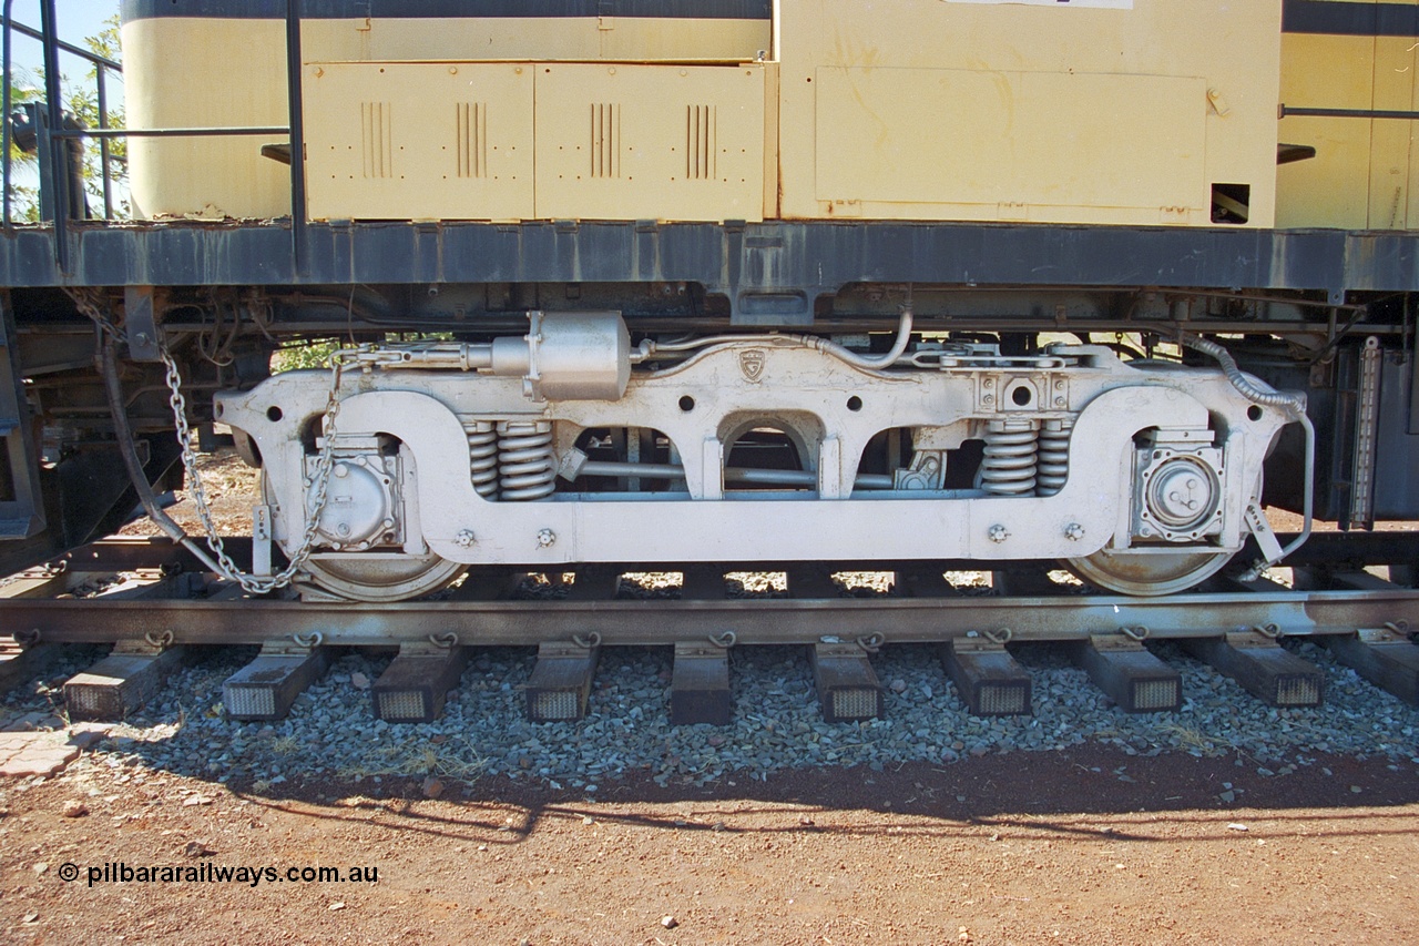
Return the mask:
[[[556,315],[535,322],[543,328],[529,337],[555,338]],[[487,351],[499,342],[528,344],[494,339]],[[333,435],[318,436],[328,372],[219,395],[217,418],[258,447],[288,554],[318,501],[315,455],[333,436],[315,562],[368,551],[465,565],[692,562],[745,548],[762,561],[1087,558],[1105,548],[1225,561],[1252,531],[1261,460],[1290,420],[1218,371],[1134,368],[1098,347],[1006,358],[990,345],[937,344],[874,362],[799,337],[711,337],[678,352],[643,344],[624,354],[627,366],[667,364],[622,375],[623,393],[603,386],[597,399],[559,386],[551,362],[536,389],[518,376],[526,362],[498,376],[474,348],[349,352]],[[458,364],[467,368],[448,368]],[[590,456],[600,432],[647,429],[671,462]],[[796,469],[732,464],[751,432],[780,433]],[[910,449],[873,450],[890,432]],[[498,489],[482,489],[477,473],[491,463],[478,460],[492,456]],[[945,489],[956,464],[972,467],[972,484]],[[637,487],[606,486],[627,480]]]

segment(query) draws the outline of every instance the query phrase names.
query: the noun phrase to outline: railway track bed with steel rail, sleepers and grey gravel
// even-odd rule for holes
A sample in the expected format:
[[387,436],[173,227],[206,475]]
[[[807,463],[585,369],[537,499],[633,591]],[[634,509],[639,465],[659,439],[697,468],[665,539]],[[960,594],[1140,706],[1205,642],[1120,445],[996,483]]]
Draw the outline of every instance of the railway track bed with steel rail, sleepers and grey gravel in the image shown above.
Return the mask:
[[[99,720],[85,741],[245,784],[505,774],[589,791],[1084,743],[1240,751],[1271,771],[1317,751],[1419,757],[1406,632],[1419,592],[1362,571],[1354,544],[1337,570],[1317,543],[1317,571],[1293,572],[1320,591],[1219,581],[1125,599],[1046,588],[1043,572],[993,589],[902,570],[890,594],[878,575],[877,591],[833,585],[864,597],[792,598],[824,585],[788,572],[778,591],[758,575],[728,585],[748,597],[711,599],[692,597],[704,582],[627,577],[617,591],[612,572],[583,572],[512,598],[465,588],[399,605],[240,599],[199,574],[165,577],[155,548],[72,554],[85,570],[152,565],[98,595],[0,601],[10,626],[38,629],[9,655],[11,729]],[[10,594],[82,588],[92,572],[71,567]],[[1010,581],[1037,594],[1007,594]]]

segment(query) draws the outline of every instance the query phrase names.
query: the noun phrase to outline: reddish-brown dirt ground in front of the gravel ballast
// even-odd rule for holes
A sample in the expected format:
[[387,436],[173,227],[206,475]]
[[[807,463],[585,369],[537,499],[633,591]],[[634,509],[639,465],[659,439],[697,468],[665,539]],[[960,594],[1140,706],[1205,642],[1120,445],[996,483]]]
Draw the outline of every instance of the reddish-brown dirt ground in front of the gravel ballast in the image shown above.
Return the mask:
[[[419,781],[251,794],[77,766],[84,778],[9,793],[4,942],[1416,942],[1409,761],[1321,756],[1261,777],[1086,747],[714,790],[631,781],[595,803],[501,778],[429,800]],[[105,882],[105,864],[258,882]],[[377,881],[299,881],[319,866]]]

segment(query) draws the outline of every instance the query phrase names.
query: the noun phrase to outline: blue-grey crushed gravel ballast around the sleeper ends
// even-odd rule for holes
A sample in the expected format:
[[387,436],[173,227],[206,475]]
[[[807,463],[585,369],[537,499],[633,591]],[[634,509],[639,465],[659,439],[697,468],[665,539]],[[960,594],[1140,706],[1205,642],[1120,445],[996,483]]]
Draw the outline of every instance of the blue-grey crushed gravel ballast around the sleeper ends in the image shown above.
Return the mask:
[[[670,726],[670,648],[606,648],[589,714],[576,723],[529,723],[524,683],[531,648],[481,649],[443,717],[427,724],[373,719],[369,682],[390,655],[345,652],[297,700],[288,719],[237,722],[221,709],[221,683],[255,655],[254,648],[209,651],[175,673],[160,695],[96,743],[111,764],[140,764],[182,776],[253,785],[304,777],[353,781],[434,776],[473,783],[502,774],[553,790],[603,793],[629,776],[666,787],[738,784],[802,767],[907,761],[951,764],[1010,751],[1050,751],[1084,743],[1125,756],[1182,751],[1236,754],[1261,776],[1284,777],[1311,754],[1386,757],[1419,764],[1419,709],[1359,679],[1324,646],[1287,643],[1325,672],[1325,705],[1274,709],[1212,668],[1159,643],[1155,651],[1182,673],[1183,706],[1175,713],[1120,710],[1086,673],[1050,645],[1022,645],[1030,669],[1034,714],[978,719],[965,712],[931,646],[895,645],[873,658],[884,685],[885,717],[824,723],[806,648],[738,648],[731,656],[734,717],[728,727]],[[75,649],[45,680],[0,705],[0,726],[28,713],[61,710],[58,685],[99,649]],[[1127,773],[1118,773],[1127,780]]]

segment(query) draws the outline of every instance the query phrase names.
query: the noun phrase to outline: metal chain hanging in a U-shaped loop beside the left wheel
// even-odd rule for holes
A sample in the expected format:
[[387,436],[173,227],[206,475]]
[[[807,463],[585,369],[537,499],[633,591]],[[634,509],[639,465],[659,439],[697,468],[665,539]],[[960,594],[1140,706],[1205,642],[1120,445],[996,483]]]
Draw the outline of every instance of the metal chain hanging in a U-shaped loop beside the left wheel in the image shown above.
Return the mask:
[[177,362],[173,361],[172,354],[167,351],[166,339],[159,342],[158,354],[167,368],[167,391],[170,392],[167,403],[173,409],[173,423],[177,428],[177,445],[182,447],[182,463],[187,473],[187,493],[192,496],[193,506],[197,507],[197,517],[201,520],[203,531],[207,534],[207,547],[211,548],[211,554],[217,558],[221,577],[237,582],[243,591],[254,595],[287,587],[295,578],[301,565],[305,564],[305,560],[311,557],[311,550],[315,548],[315,535],[321,527],[321,516],[325,513],[331,470],[335,466],[335,419],[341,412],[342,361],[339,358],[331,359],[331,392],[325,402],[324,422],[325,443],[321,446],[319,457],[315,462],[315,479],[311,484],[315,490],[315,503],[307,510],[305,533],[301,537],[301,545],[291,555],[289,564],[278,574],[268,578],[258,578],[257,575],[247,575],[237,568],[237,564],[227,554],[221,535],[217,534],[217,524],[211,517],[211,506],[201,484],[201,474],[197,472],[197,455],[192,449],[192,429],[187,426],[187,401],[182,395],[182,375],[177,371]]

